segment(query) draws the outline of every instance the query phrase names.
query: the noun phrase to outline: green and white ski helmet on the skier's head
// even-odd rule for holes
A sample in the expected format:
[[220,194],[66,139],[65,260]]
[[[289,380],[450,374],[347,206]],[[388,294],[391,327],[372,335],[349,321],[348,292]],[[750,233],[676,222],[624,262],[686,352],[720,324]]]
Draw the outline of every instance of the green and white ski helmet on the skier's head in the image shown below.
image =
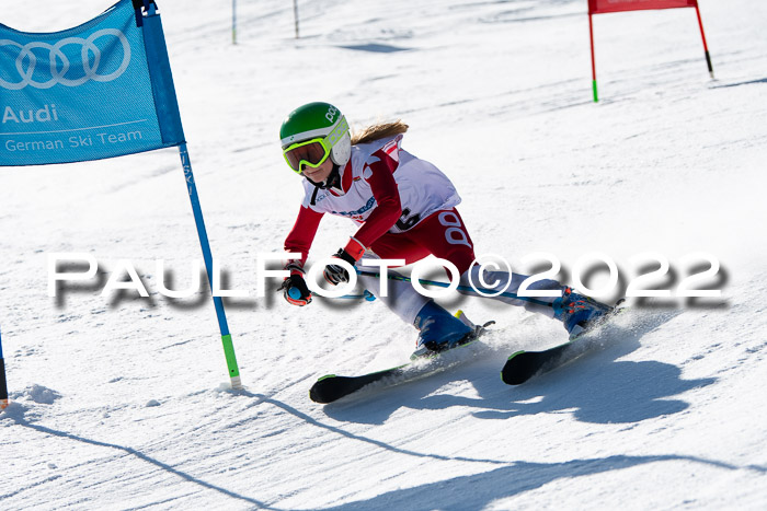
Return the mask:
[[352,154],[346,118],[330,103],[308,103],[290,112],[279,128],[279,139],[284,153],[296,143],[321,139],[330,159],[339,166],[345,165]]

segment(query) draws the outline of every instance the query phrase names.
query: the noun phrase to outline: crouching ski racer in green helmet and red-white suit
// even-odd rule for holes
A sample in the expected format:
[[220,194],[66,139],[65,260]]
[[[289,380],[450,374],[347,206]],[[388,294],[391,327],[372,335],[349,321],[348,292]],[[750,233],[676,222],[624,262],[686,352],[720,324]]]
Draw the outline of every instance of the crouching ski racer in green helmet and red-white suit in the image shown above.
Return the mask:
[[[285,251],[300,253],[285,269],[290,271],[279,290],[294,305],[311,302],[304,279],[304,265],[324,213],[351,218],[359,229],[333,257],[356,265],[365,258],[404,259],[415,263],[430,254],[449,260],[468,284],[478,282],[482,271],[474,262],[469,232],[456,210],[460,197],[453,183],[433,164],[402,149],[408,126],[400,120],[381,123],[354,137],[342,113],[329,103],[309,103],[291,112],[279,130],[283,154],[288,166],[305,177],[305,198],[296,223],[285,241]],[[348,281],[340,265],[323,271],[332,284]],[[527,276],[484,271],[490,289],[515,293]],[[473,335],[473,328],[448,313],[434,300],[417,293],[410,283],[389,282],[388,297],[379,294],[379,277],[359,275],[360,282],[399,317],[419,333],[414,357],[450,349]],[[510,283],[511,280],[511,283]],[[495,297],[513,305],[554,317],[575,336],[611,310],[591,298],[575,293],[554,280],[540,280],[529,289],[562,290],[561,298],[537,298],[531,303]],[[474,294],[474,293],[468,293]]]

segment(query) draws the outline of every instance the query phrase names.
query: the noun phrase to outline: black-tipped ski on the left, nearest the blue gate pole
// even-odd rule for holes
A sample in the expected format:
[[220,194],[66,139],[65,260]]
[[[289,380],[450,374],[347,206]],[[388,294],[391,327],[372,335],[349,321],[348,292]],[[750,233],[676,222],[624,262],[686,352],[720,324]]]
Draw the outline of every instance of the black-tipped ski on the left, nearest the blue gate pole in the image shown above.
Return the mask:
[[[458,311],[456,316],[463,322],[468,322],[466,316],[462,315],[461,311]],[[325,405],[353,394],[374,382],[385,382],[386,386],[393,386],[398,383],[416,380],[428,374],[443,371],[453,364],[445,365],[437,363],[437,359],[439,359],[440,356],[472,345],[485,332],[485,327],[492,323],[493,322],[489,322],[483,326],[479,326],[469,322],[469,324],[474,327],[474,333],[468,336],[463,342],[458,344],[449,350],[434,352],[427,357],[411,360],[410,362],[403,363],[402,365],[398,365],[396,368],[385,369],[384,371],[376,371],[358,376],[341,376],[336,374],[328,374],[322,376],[309,390],[309,398],[314,403]],[[423,368],[415,370],[417,365],[422,364],[424,365]]]

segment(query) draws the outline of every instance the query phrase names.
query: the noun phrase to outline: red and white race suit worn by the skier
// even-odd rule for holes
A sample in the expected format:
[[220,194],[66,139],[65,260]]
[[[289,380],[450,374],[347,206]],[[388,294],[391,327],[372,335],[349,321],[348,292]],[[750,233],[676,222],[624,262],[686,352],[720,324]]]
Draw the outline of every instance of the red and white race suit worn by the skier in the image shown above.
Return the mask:
[[[365,258],[404,259],[405,264],[412,264],[434,255],[453,263],[465,283],[474,260],[474,248],[455,209],[461,200],[458,191],[439,169],[403,150],[401,142],[402,136],[398,135],[353,146],[350,161],[340,170],[341,189],[318,190],[305,179],[305,198],[285,240],[285,251],[300,253],[304,265],[322,216],[335,214],[360,225],[353,237],[367,249]],[[512,292],[525,278],[517,274],[493,275],[494,280],[485,281],[503,286],[511,279],[506,289]],[[407,282],[388,282],[389,295],[380,297],[377,277],[360,276],[359,280],[408,323],[413,322],[428,300]],[[554,281],[539,283],[559,286]],[[528,306],[518,300],[499,299]],[[550,311],[539,312],[551,315]]]

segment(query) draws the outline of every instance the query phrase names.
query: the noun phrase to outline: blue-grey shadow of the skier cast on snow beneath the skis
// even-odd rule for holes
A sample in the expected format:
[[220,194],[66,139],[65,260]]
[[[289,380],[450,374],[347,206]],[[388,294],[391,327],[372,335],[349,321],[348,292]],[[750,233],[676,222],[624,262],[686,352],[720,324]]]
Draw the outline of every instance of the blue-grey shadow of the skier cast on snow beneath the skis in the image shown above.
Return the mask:
[[[329,405],[324,411],[340,421],[362,423],[384,423],[401,407],[471,407],[476,409],[474,417],[483,419],[573,410],[575,419],[593,423],[631,423],[677,414],[687,409],[689,404],[672,396],[710,385],[716,379],[684,380],[682,370],[669,363],[618,360],[638,349],[642,336],[677,314],[653,314],[643,324],[614,328],[602,340],[602,346],[576,362],[539,375],[524,385],[504,385],[499,378],[502,363],[485,359],[370,394],[365,400]],[[461,380],[470,381],[479,396],[438,392],[447,383]]]

